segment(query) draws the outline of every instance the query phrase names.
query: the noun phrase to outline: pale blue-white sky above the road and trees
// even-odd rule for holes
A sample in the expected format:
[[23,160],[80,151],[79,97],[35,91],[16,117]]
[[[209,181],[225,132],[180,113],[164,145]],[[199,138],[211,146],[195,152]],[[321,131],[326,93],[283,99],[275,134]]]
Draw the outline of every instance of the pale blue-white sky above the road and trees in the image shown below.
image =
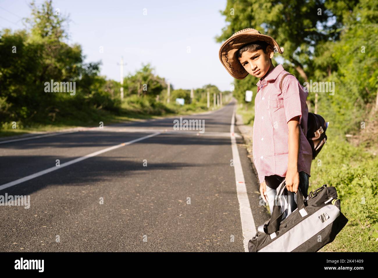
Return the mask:
[[[24,28],[29,3],[0,0],[0,29]],[[221,43],[215,42],[228,24],[220,14],[226,0],[53,0],[53,7],[70,17],[68,43],[82,46],[85,62],[101,60],[101,75],[108,79],[120,80],[123,56],[124,75],[150,63],[174,89],[213,84],[231,90],[234,79],[219,60]]]

